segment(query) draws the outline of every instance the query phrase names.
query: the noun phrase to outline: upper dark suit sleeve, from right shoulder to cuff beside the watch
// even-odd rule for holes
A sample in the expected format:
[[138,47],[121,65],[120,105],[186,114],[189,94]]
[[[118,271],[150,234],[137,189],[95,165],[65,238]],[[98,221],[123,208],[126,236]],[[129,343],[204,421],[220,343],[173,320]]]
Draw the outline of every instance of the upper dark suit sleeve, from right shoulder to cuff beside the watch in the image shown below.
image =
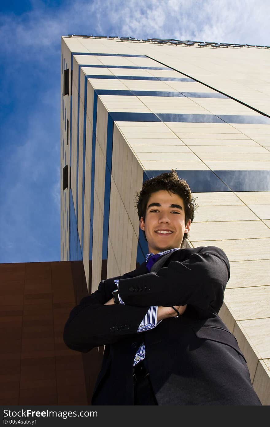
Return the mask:
[[228,280],[226,254],[207,246],[183,262],[171,261],[156,273],[119,280],[118,290],[125,304],[133,306],[189,304],[218,313]]

